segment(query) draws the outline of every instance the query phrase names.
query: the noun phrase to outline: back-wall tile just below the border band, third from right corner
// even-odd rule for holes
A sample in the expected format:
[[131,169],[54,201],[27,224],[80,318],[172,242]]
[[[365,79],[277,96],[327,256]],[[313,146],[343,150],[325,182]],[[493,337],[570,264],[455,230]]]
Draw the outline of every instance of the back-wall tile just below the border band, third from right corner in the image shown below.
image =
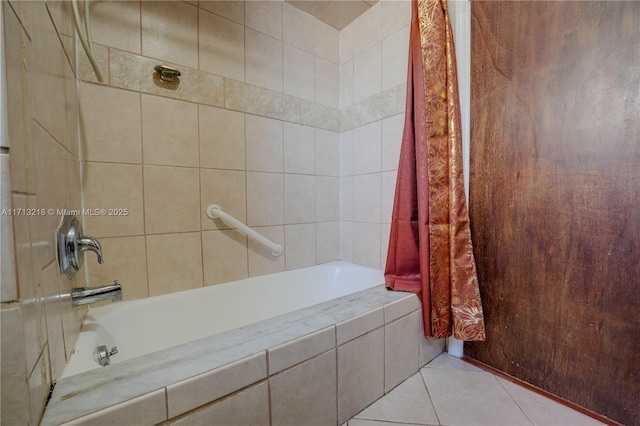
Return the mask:
[[246,115],[245,129],[247,170],[282,172],[284,167],[282,122]]

